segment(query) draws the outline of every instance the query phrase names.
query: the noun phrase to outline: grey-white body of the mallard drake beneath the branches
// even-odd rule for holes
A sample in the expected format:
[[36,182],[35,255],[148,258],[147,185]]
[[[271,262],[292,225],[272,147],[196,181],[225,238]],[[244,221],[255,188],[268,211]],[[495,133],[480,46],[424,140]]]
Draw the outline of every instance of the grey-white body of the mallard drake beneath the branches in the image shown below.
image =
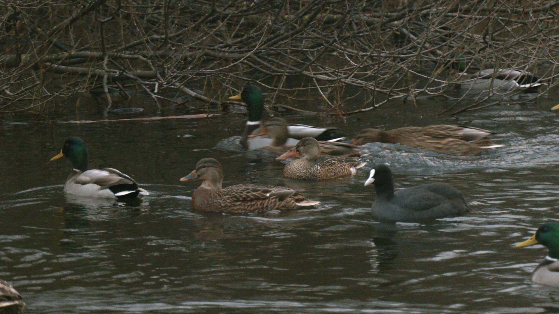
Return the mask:
[[463,82],[456,84],[455,89],[468,93],[493,90],[498,93],[511,92],[522,88],[524,92],[532,92],[543,85],[536,75],[512,69],[486,69],[473,74],[462,73]]

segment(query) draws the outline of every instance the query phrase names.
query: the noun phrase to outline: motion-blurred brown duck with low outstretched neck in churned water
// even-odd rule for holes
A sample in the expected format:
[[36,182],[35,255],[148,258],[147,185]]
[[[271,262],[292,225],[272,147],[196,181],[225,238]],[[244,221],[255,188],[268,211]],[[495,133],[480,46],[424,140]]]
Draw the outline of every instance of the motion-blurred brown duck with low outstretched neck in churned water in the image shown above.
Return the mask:
[[491,140],[486,139],[485,137],[490,134],[491,131],[477,129],[476,127],[455,125],[410,126],[390,131],[364,129],[356,135],[352,143],[356,145],[369,142],[399,143],[439,154],[473,156],[485,149],[505,146],[494,144]]

